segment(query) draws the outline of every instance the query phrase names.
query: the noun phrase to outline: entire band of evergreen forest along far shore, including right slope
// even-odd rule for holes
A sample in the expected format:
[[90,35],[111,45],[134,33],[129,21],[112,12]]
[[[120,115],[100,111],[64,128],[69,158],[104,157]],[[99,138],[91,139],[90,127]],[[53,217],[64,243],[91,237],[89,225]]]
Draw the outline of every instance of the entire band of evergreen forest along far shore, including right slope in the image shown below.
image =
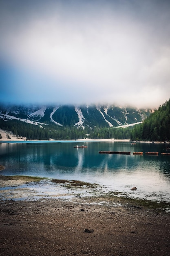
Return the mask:
[[[94,129],[60,127],[54,124],[42,127],[24,123],[18,120],[4,121],[0,119],[0,128],[11,131],[16,136],[26,139],[131,139],[142,141],[170,141],[170,100],[147,117],[143,124],[128,128],[101,128]],[[12,138],[11,138],[12,139]]]

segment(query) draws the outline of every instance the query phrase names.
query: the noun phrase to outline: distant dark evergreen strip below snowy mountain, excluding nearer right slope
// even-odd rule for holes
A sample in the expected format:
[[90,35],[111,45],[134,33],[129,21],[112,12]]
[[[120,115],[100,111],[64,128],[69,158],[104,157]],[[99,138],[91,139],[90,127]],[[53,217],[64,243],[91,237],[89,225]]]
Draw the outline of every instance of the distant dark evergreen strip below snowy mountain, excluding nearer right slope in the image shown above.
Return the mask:
[[4,121],[0,119],[0,128],[2,130],[11,131],[16,136],[26,137],[26,139],[105,139],[117,138],[126,139],[130,138],[130,128],[76,128],[67,127],[63,128],[56,125],[45,125],[40,128],[33,124],[24,123],[18,120]]

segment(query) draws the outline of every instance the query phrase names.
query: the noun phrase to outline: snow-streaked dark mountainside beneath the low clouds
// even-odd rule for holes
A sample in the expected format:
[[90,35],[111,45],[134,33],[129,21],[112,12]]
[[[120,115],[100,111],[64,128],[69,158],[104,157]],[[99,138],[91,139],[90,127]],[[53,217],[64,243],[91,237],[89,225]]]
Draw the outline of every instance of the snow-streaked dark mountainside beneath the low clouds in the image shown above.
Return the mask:
[[18,119],[31,124],[63,127],[117,127],[143,121],[150,109],[115,105],[0,106],[0,119]]

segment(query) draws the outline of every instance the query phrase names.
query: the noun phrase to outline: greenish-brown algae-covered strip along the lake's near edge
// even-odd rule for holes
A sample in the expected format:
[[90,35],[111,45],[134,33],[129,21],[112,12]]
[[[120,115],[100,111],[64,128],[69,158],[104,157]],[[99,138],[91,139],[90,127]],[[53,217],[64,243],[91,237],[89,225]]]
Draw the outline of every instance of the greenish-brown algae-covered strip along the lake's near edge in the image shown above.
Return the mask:
[[[102,187],[99,184],[93,184],[78,180],[59,180],[59,179],[48,179],[45,177],[32,177],[32,176],[24,176],[24,175],[14,175],[14,176],[3,176],[0,175],[1,184],[0,187],[7,187],[7,186],[20,186],[22,184],[26,184],[29,182],[41,182],[41,180],[47,180],[51,181],[53,183],[56,183],[56,185],[60,185],[62,188],[69,188],[72,190],[74,189],[80,189],[81,200],[93,202],[95,204],[117,204],[122,205],[125,207],[137,207],[139,209],[145,208],[145,209],[152,209],[152,210],[165,210],[167,209],[168,212],[170,212],[170,203],[168,202],[158,202],[158,201],[151,201],[151,200],[145,200],[145,199],[135,199],[135,198],[128,198],[127,195],[122,194],[119,191],[110,191],[110,192],[104,192],[102,191]],[[48,183],[48,182],[47,182]],[[49,186],[49,183],[48,183]],[[84,194],[84,188],[86,188],[86,192],[88,191],[88,195],[86,193]],[[91,190],[92,189],[92,190]],[[98,190],[99,189],[99,190]],[[26,190],[26,188],[25,188]],[[26,192],[26,191],[25,191]],[[30,191],[29,191],[30,193]],[[65,193],[65,191],[64,191]],[[69,195],[73,195],[73,198],[76,196],[75,191],[72,191],[68,193]],[[90,195],[91,194],[91,195]],[[42,194],[41,194],[42,195]],[[60,195],[61,196],[61,195]],[[46,198],[48,195],[46,195]],[[49,195],[50,198],[50,195]]]

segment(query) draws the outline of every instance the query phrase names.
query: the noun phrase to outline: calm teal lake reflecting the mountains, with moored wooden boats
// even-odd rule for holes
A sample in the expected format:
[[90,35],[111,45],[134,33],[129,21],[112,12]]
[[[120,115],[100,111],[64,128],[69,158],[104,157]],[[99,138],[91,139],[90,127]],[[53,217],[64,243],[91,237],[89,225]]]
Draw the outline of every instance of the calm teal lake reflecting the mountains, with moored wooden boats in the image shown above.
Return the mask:
[[[87,148],[73,146],[86,145]],[[97,183],[104,191],[132,198],[170,202],[170,144],[124,141],[23,141],[0,143],[1,175],[31,175]],[[130,155],[99,154],[101,150]],[[141,152],[143,155],[132,155]],[[158,151],[159,155],[145,152]],[[170,152],[170,150],[169,150]],[[136,186],[136,191],[130,191]]]

